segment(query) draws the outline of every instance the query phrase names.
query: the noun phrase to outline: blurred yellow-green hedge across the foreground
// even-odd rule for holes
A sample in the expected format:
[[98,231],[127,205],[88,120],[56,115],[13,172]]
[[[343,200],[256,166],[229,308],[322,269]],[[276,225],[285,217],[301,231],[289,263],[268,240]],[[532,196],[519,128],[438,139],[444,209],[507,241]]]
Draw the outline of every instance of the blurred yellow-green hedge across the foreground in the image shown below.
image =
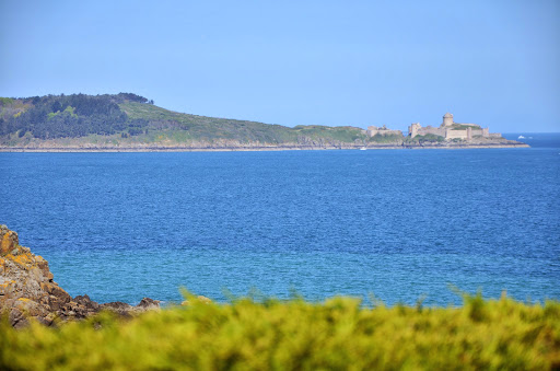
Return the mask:
[[0,324],[4,370],[548,370],[560,368],[560,303],[466,297],[463,308],[368,309],[249,299],[59,328]]

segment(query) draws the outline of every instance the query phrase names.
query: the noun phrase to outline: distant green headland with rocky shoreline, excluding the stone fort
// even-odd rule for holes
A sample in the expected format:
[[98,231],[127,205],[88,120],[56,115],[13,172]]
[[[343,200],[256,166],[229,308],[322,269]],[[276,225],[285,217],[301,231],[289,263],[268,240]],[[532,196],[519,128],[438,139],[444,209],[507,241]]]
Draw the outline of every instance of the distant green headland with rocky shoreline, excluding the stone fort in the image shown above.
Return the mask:
[[0,97],[0,151],[259,151],[318,149],[516,148],[525,143],[474,137],[372,134],[359,127],[281,125],[172,112],[131,94]]

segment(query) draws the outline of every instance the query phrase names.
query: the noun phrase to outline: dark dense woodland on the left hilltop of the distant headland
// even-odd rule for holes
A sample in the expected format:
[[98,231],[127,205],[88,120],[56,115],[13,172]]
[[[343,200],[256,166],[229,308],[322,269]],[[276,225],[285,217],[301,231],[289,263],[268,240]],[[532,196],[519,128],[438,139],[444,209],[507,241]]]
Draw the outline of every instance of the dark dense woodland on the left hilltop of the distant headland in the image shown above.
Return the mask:
[[128,118],[118,106],[128,101],[153,104],[153,101],[149,102],[132,93],[62,94],[3,100],[0,107],[7,109],[2,112],[8,112],[14,104],[23,109],[15,115],[0,117],[0,136],[19,132],[23,137],[30,131],[35,138],[52,139],[91,134],[113,135],[127,129],[130,135],[138,135],[148,126],[148,121]]

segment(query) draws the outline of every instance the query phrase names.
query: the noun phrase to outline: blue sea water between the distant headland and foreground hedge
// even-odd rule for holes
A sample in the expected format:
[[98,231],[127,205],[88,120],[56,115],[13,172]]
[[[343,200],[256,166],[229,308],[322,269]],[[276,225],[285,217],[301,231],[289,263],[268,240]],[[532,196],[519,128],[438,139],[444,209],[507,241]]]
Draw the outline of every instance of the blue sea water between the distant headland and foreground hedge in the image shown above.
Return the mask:
[[560,135],[530,137],[530,149],[0,153],[0,223],[70,294],[100,302],[180,301],[186,287],[218,301],[257,288],[460,304],[450,285],[558,300]]

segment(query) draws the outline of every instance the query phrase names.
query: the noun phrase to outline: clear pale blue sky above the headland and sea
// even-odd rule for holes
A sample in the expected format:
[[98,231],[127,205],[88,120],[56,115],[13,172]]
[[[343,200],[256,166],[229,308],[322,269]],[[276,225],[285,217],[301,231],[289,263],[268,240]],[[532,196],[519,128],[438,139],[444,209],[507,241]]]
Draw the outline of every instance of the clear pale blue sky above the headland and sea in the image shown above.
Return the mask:
[[0,0],[0,96],[287,126],[560,131],[560,1]]

